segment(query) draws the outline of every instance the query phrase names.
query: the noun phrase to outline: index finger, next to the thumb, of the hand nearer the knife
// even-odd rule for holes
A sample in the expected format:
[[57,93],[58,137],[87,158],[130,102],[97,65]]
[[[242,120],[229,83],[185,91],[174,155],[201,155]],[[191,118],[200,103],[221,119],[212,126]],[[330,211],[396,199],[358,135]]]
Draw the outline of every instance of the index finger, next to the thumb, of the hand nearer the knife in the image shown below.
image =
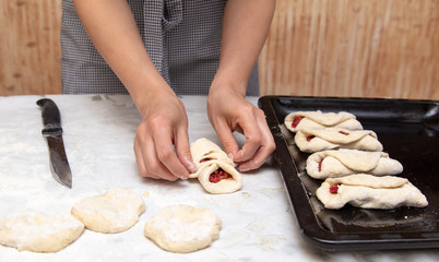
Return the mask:
[[175,177],[189,177],[189,171],[180,163],[177,154],[174,152],[173,136],[173,132],[166,128],[157,128],[153,130],[153,140],[157,158],[159,163],[162,163]]

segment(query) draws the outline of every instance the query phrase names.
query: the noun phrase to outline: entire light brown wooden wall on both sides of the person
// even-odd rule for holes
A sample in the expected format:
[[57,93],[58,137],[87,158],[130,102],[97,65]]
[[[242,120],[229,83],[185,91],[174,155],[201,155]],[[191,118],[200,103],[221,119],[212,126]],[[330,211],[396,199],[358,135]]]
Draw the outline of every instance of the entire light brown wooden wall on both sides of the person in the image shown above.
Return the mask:
[[[60,0],[0,0],[0,95],[61,93]],[[439,0],[277,0],[262,95],[439,99]]]

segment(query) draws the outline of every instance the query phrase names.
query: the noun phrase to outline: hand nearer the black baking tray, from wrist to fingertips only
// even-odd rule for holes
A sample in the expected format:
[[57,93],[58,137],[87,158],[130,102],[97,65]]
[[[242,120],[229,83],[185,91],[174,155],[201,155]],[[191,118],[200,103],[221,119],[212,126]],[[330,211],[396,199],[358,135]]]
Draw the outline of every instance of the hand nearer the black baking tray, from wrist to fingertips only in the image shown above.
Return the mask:
[[[228,86],[211,87],[207,115],[226,153],[234,162],[240,163],[240,171],[247,171],[259,168],[273,153],[275,145],[263,111],[235,90]],[[241,150],[235,140],[234,131],[246,136]]]

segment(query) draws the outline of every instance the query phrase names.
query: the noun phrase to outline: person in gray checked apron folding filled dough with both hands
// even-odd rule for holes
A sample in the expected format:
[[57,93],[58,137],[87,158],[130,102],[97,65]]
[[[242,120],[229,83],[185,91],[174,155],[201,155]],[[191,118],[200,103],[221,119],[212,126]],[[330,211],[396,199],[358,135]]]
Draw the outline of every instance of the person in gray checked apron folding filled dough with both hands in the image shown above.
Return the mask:
[[[274,151],[258,95],[256,62],[274,0],[64,0],[64,93],[129,93],[142,115],[134,139],[144,177],[187,179],[186,109],[177,94],[207,94],[209,119],[241,171]],[[234,131],[246,136],[239,148]],[[175,151],[174,147],[175,146]]]

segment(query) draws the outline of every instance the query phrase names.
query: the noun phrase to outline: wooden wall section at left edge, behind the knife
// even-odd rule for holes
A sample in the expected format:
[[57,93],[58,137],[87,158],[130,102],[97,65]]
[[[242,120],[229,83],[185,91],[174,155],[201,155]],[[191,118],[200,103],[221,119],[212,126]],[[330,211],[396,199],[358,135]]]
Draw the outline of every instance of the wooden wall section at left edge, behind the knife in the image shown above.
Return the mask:
[[0,1],[0,95],[61,92],[60,0]]

